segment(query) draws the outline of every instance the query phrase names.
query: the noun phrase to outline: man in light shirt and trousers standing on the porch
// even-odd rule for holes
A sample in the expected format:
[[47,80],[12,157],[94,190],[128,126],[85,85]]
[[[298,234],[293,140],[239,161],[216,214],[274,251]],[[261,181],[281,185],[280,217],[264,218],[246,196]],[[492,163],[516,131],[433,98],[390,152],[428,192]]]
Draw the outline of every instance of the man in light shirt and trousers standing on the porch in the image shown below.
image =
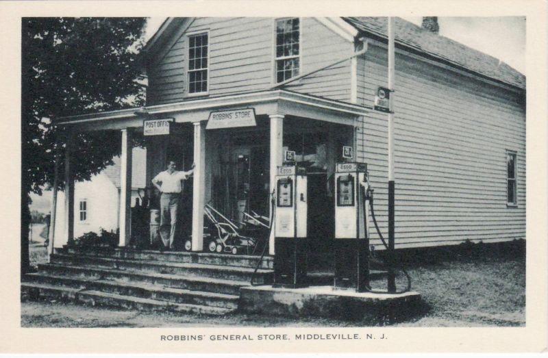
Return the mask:
[[182,181],[194,171],[195,164],[192,163],[192,168],[185,172],[183,170],[175,170],[177,164],[173,161],[169,162],[167,170],[160,172],[152,179],[152,183],[160,192],[160,237],[163,245],[160,244],[160,251],[173,250],[173,238],[177,229],[177,207],[179,199],[183,191]]

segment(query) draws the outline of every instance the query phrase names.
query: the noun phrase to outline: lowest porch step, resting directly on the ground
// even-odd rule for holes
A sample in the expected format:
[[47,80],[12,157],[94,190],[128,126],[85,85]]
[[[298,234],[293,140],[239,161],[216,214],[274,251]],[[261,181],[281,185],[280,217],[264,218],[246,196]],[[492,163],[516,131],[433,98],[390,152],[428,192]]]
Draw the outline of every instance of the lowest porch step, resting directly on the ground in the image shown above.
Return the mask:
[[[70,292],[70,294],[66,294]],[[140,310],[162,310],[184,314],[208,314],[223,315],[234,309],[224,307],[209,307],[203,305],[191,305],[186,303],[170,303],[154,300],[151,298],[140,298],[101,292],[97,290],[78,290],[70,287],[59,287],[55,285],[38,283],[21,283],[21,294],[27,294],[29,298],[67,298],[75,303],[88,305],[103,305],[108,307],[122,307]]]

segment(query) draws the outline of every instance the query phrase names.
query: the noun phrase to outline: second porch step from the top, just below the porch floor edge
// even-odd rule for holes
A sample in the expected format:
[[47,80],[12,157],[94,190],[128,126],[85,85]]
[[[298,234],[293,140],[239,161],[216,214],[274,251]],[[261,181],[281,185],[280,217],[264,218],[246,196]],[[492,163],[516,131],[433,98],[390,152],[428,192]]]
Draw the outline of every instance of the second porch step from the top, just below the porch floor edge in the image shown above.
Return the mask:
[[233,281],[251,281],[251,277],[262,279],[269,283],[273,277],[273,270],[259,269],[254,273],[253,268],[234,266],[219,266],[206,264],[192,264],[179,262],[155,262],[138,259],[117,259],[112,257],[97,257],[91,255],[54,254],[51,262],[71,266],[116,268],[121,270],[140,270],[158,272],[162,274],[178,274],[184,277],[210,277]]

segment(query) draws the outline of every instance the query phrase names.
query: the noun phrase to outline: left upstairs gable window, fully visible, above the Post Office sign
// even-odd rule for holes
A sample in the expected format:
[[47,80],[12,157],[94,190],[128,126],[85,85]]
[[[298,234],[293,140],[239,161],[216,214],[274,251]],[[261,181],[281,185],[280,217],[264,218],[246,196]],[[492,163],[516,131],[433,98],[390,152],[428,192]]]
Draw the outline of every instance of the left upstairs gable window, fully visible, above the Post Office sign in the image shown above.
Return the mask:
[[188,93],[208,92],[208,34],[188,36]]

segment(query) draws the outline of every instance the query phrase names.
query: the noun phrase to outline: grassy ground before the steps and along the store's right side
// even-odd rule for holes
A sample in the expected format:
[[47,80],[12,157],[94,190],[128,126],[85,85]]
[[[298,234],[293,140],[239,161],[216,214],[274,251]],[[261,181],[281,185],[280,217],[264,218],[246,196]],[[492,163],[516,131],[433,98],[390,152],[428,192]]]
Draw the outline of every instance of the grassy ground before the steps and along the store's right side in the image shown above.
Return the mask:
[[[32,250],[45,248],[32,246]],[[423,309],[394,327],[525,326],[525,243],[470,244],[402,253],[412,290],[420,292]],[[397,280],[405,285],[403,276]],[[376,283],[382,287],[384,282]],[[363,322],[319,318],[174,316],[86,307],[58,302],[23,302],[22,327],[363,327]]]

